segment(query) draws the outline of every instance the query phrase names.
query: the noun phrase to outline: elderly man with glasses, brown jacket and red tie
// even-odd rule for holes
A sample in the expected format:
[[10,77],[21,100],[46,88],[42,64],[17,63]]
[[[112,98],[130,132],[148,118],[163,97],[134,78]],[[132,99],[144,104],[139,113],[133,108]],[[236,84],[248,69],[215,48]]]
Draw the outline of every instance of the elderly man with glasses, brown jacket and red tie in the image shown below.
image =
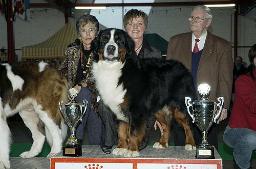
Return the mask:
[[[231,89],[233,60],[230,42],[209,33],[211,24],[211,10],[203,5],[193,8],[188,17],[190,30],[171,37],[168,43],[166,60],[174,59],[182,62],[193,76],[195,88],[201,83],[208,83],[211,87],[209,98],[217,101],[218,97],[224,97],[224,108],[217,121],[227,117]],[[196,94],[196,98],[198,98]],[[194,138],[196,144],[202,141],[202,134],[194,124]],[[175,145],[185,145],[184,130],[173,125]],[[217,125],[214,124],[208,132],[208,142],[218,150]]]

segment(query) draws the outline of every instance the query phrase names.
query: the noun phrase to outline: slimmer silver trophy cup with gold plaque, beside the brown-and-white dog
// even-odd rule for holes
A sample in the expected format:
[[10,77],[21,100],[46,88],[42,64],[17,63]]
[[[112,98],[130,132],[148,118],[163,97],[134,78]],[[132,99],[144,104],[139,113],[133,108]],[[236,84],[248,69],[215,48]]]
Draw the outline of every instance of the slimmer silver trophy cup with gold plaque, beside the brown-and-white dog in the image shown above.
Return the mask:
[[83,100],[83,104],[78,103],[75,100],[77,94],[78,91],[75,88],[71,88],[69,90],[70,102],[63,104],[62,100],[59,101],[61,114],[70,127],[70,137],[67,140],[66,146],[63,147],[63,156],[82,156],[82,147],[79,143],[79,139],[76,137],[76,127],[82,121],[82,117],[86,113],[88,102],[87,100]]

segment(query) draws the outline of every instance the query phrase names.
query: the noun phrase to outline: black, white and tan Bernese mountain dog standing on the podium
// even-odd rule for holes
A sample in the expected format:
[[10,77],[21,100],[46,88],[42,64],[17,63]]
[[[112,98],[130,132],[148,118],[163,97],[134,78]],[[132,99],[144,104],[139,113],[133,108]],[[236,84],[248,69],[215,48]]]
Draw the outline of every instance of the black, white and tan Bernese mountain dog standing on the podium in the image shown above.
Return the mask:
[[92,73],[104,104],[117,117],[118,146],[114,155],[138,157],[145,137],[147,117],[156,116],[163,135],[153,148],[168,147],[172,119],[186,134],[185,149],[196,149],[185,97],[194,98],[189,71],[180,62],[138,59],[134,41],[119,29],[106,29],[93,40]]

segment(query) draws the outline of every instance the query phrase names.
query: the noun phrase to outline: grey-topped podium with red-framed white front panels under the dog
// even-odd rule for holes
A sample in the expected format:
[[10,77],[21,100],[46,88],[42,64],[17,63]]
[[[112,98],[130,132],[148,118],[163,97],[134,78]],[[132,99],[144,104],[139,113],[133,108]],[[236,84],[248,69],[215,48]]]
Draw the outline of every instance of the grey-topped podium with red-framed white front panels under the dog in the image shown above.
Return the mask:
[[136,158],[105,154],[100,146],[82,146],[81,157],[63,157],[62,151],[51,158],[51,169],[222,169],[222,159],[215,149],[215,159],[196,159],[196,151],[183,146],[153,149],[147,146]]

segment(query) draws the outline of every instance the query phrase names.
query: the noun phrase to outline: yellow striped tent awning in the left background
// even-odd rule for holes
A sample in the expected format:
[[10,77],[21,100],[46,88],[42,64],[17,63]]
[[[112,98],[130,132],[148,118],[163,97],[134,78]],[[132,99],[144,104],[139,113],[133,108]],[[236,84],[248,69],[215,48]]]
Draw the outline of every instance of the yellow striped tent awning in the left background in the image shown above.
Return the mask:
[[22,59],[62,58],[67,46],[76,38],[76,30],[67,23],[46,41],[22,47]]

